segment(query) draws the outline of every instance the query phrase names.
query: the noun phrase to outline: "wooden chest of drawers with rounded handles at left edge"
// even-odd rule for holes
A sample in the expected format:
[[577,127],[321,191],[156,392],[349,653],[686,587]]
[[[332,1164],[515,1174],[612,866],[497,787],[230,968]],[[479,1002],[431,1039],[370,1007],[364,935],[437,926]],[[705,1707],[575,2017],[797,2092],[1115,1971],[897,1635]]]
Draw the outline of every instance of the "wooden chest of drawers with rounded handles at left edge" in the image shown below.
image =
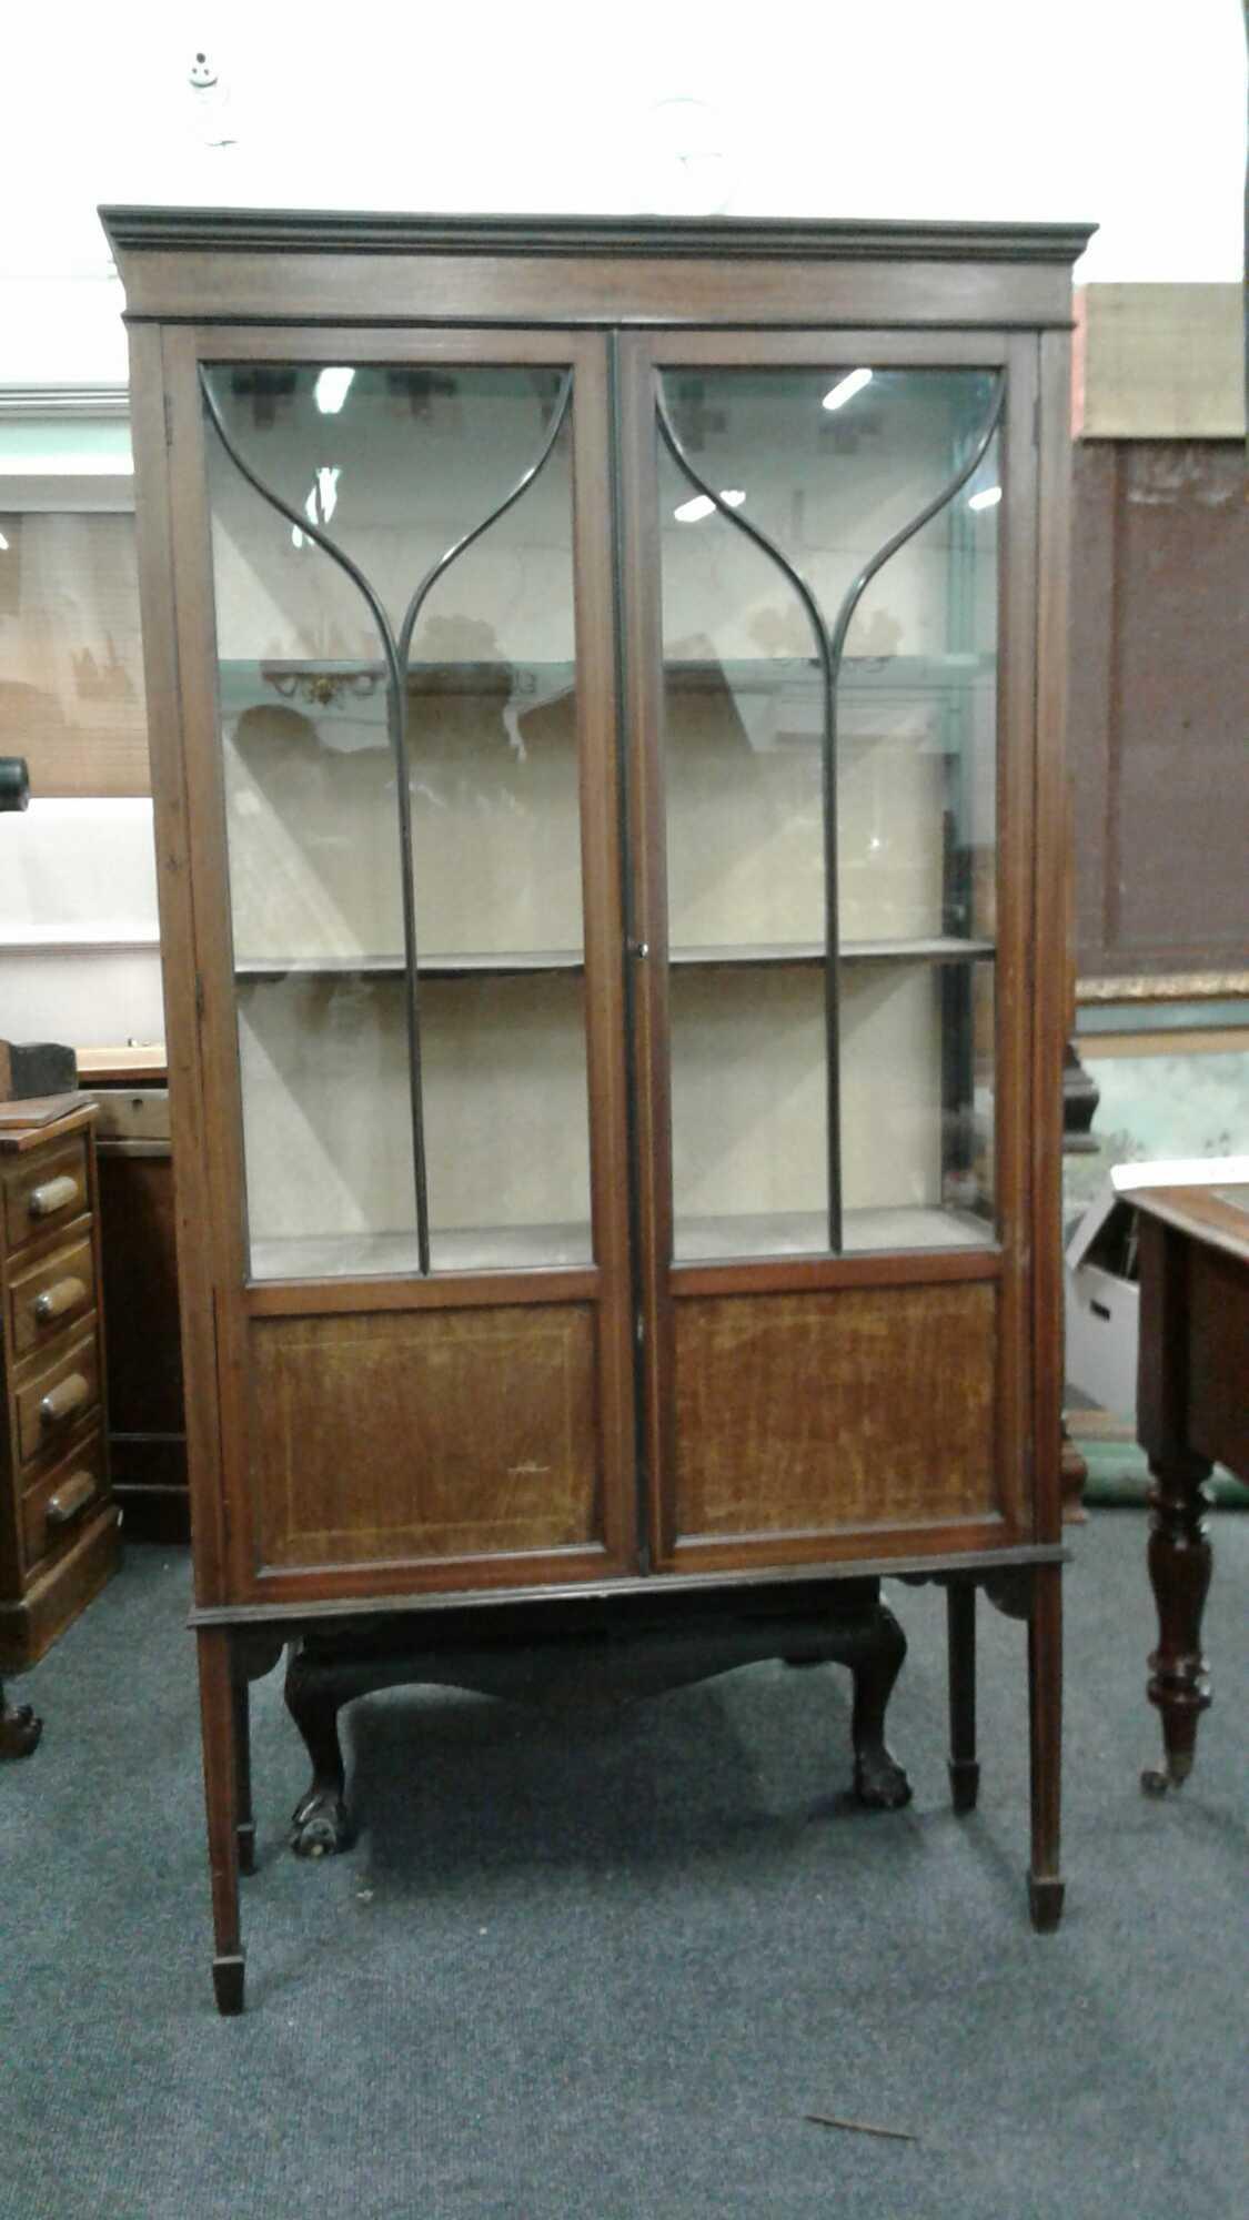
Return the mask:
[[[118,1563],[109,1492],[96,1106],[0,1123],[0,1669],[58,1638]],[[40,1123],[40,1117],[44,1119]]]

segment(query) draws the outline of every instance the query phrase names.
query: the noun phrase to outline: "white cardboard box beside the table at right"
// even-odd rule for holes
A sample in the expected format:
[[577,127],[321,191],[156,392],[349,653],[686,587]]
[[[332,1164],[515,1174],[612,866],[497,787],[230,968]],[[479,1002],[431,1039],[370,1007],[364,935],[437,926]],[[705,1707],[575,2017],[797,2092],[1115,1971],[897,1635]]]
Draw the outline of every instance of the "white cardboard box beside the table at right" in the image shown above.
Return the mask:
[[1249,1181],[1249,1157],[1173,1157],[1116,1163],[1065,1250],[1067,1383],[1098,1410],[1136,1414],[1140,1285],[1136,1210],[1140,1188],[1220,1188]]

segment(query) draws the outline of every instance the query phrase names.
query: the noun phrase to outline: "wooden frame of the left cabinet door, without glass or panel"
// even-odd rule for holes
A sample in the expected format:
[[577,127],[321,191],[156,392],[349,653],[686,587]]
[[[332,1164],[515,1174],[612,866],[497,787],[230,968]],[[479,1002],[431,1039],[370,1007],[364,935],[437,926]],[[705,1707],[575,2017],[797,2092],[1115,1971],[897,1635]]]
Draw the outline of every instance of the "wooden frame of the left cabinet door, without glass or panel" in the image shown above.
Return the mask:
[[[136,371],[160,353],[162,415],[149,402],[144,586],[160,610],[149,644],[158,884],[167,941],[171,1119],[180,1208],[187,1370],[213,1381],[211,1421],[191,1427],[198,1603],[398,1596],[431,1590],[567,1585],[636,1567],[633,1296],[624,981],[620,963],[620,806],[609,482],[607,342],[558,329],[167,324],[133,331]],[[553,364],[573,373],[573,597],[587,988],[587,1092],[593,1263],[429,1279],[253,1281],[244,1225],[242,1099],[218,730],[202,362]],[[138,391],[144,391],[138,384]],[[147,386],[151,393],[153,386]],[[140,519],[142,522],[142,519]],[[156,684],[153,684],[156,679]],[[193,1015],[187,1003],[193,995]],[[178,1008],[182,1003],[182,1008]],[[187,1166],[187,1170],[182,1170]],[[189,1254],[191,1252],[191,1254]],[[269,1570],[253,1518],[251,1341],[258,1321],[591,1305],[600,1545],[498,1556]],[[229,1503],[229,1516],[227,1516]]]

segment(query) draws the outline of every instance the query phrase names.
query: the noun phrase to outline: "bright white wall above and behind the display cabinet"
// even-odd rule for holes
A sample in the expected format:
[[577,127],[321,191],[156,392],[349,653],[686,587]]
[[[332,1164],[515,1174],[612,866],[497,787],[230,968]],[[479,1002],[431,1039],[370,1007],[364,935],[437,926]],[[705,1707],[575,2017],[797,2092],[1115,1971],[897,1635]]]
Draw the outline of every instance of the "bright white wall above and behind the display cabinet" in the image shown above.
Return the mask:
[[[1089,218],[1080,282],[1242,269],[1238,0],[71,0],[13,4],[0,67],[0,384],[124,377],[100,200]],[[689,189],[680,93],[725,155]]]

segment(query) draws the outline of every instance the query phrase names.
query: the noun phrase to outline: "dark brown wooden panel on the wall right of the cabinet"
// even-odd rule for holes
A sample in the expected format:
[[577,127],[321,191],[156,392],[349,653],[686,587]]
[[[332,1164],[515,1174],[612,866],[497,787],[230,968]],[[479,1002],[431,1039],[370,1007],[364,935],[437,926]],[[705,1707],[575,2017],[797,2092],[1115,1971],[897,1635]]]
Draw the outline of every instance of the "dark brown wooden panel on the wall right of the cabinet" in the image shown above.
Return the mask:
[[1249,963],[1249,506],[1238,442],[1076,444],[1080,979]]

